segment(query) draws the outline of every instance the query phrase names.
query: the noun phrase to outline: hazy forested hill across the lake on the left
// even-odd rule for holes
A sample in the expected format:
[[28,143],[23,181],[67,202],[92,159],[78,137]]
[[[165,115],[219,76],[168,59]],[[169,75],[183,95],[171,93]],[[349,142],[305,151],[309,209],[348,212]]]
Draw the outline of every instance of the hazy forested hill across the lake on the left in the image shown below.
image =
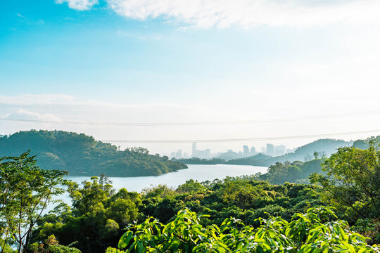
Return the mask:
[[187,166],[144,148],[118,151],[115,145],[67,131],[19,131],[0,137],[0,157],[30,150],[42,169],[62,169],[70,176],[156,176]]

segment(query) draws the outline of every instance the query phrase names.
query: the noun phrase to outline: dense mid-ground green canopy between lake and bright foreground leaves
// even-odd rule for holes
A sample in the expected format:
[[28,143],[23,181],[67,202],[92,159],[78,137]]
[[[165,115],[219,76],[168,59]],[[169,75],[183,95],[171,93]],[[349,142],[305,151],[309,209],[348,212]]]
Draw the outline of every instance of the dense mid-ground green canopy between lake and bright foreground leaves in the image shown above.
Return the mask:
[[203,225],[220,225],[229,216],[257,224],[255,219],[266,216],[265,212],[289,220],[295,212],[322,205],[317,188],[294,183],[273,186],[258,181],[256,176],[227,177],[223,181],[203,183],[189,180],[175,191],[165,186],[144,190],[140,212],[163,223],[174,219],[185,207],[210,215],[202,220]]

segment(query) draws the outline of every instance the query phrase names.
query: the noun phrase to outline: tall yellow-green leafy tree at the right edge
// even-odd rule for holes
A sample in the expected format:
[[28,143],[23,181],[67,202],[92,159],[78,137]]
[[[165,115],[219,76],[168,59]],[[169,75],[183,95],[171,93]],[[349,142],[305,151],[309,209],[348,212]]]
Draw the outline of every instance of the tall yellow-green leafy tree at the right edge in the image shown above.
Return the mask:
[[380,216],[380,151],[375,139],[369,148],[339,148],[322,165],[326,176],[312,174],[310,181],[323,186],[322,195],[344,209],[350,221]]

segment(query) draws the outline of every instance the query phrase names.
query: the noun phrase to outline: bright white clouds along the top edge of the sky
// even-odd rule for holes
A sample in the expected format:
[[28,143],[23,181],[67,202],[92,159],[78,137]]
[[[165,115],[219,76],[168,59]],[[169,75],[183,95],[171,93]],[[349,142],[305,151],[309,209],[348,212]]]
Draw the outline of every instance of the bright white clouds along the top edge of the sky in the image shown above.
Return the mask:
[[[380,1],[278,0],[107,0],[110,8],[127,18],[164,18],[196,27],[240,25],[305,27],[336,22],[378,20]],[[70,8],[87,10],[96,0],[57,0]],[[314,4],[310,4],[314,3]]]

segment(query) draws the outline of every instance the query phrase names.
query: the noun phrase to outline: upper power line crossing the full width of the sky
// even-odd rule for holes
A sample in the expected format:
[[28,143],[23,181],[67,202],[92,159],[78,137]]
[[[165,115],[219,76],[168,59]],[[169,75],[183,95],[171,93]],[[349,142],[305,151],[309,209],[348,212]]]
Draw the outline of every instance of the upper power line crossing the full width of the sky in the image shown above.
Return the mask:
[[247,120],[226,120],[226,121],[210,121],[210,122],[76,122],[76,121],[58,121],[58,120],[42,120],[42,119],[11,119],[0,117],[0,120],[11,122],[30,122],[30,123],[47,123],[47,124],[75,124],[75,125],[92,125],[92,126],[200,126],[200,125],[218,125],[218,124],[257,124],[272,122],[292,122],[308,119],[330,119],[338,117],[353,117],[362,115],[379,114],[380,110],[368,112],[349,112],[331,115],[313,115],[304,117],[284,117],[273,119],[247,119]]

